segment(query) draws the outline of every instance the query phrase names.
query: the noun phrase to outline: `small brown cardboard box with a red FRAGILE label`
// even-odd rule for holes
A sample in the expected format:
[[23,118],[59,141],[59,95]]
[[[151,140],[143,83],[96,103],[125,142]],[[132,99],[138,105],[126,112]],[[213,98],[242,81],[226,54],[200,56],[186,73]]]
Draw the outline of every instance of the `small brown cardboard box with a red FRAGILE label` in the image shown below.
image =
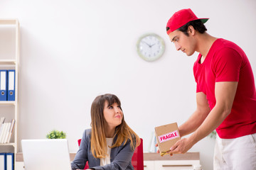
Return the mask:
[[167,154],[171,146],[181,139],[177,123],[155,127],[155,134],[161,156]]

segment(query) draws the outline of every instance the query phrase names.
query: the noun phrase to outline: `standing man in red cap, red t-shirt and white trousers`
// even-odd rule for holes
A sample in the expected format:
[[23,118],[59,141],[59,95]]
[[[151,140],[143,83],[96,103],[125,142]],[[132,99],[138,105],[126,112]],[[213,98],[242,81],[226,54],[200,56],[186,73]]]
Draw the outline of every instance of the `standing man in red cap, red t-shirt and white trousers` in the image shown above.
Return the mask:
[[166,31],[176,50],[191,56],[196,80],[196,111],[178,127],[181,138],[169,154],[186,153],[216,129],[214,169],[256,169],[255,80],[245,52],[233,42],[206,33],[208,18],[190,8],[169,19]]

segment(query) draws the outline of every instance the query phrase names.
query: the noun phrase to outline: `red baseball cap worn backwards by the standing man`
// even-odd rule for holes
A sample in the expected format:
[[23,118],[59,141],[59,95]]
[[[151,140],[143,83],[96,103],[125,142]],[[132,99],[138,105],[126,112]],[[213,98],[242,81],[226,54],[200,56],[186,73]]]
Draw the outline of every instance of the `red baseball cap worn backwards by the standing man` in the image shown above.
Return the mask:
[[167,34],[173,32],[174,30],[180,28],[181,26],[184,26],[189,21],[194,21],[200,19],[203,23],[206,23],[209,18],[198,18],[195,13],[191,10],[191,8],[181,9],[180,11],[177,11],[174,13],[173,16],[169,19],[167,23],[167,27],[169,27],[169,30],[167,30]]

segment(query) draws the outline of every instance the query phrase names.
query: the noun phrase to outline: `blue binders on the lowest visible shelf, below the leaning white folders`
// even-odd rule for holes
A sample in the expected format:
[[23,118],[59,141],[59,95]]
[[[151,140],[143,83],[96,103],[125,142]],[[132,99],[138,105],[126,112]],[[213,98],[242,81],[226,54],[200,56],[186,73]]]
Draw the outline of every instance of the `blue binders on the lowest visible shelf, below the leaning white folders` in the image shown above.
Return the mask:
[[14,153],[0,153],[0,170],[14,170]]

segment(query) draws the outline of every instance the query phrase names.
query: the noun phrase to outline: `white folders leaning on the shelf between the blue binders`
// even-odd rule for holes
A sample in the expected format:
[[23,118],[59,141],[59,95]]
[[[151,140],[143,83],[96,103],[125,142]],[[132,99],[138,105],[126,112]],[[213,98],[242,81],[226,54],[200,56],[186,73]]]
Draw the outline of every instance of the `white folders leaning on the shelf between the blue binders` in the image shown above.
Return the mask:
[[0,118],[0,144],[9,143],[14,132],[15,120],[12,119],[11,122],[4,122],[4,120],[4,117]]

